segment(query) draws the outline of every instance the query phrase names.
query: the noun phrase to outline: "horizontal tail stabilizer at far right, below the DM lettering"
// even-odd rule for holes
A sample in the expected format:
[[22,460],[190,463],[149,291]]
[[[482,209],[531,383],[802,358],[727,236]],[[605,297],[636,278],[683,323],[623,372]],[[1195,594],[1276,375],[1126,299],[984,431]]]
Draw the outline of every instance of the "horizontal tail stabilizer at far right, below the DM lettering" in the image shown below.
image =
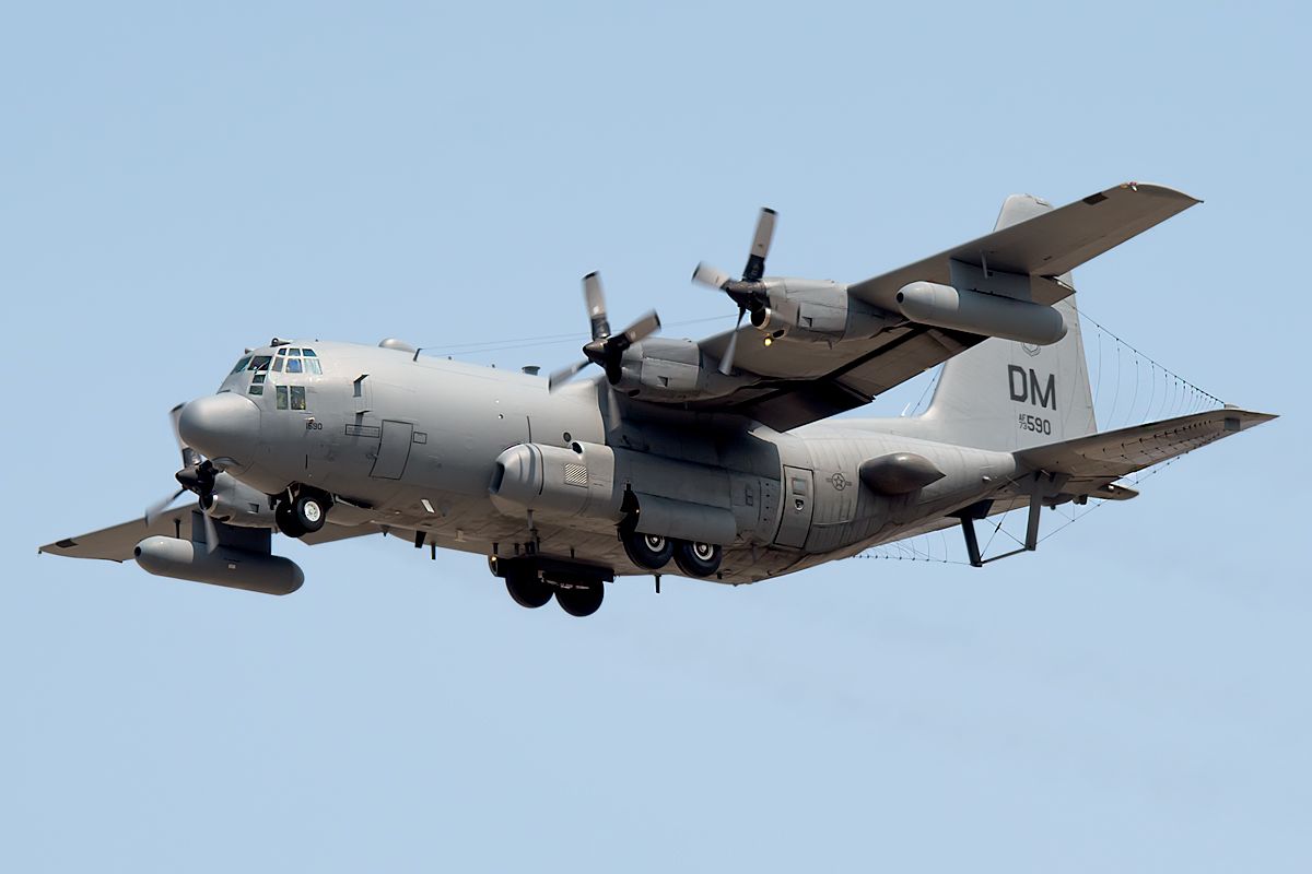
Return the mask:
[[[1274,418],[1270,413],[1224,408],[1021,449],[1015,460],[1030,470],[1063,473],[1082,481],[1110,481]],[[1111,497],[1097,491],[1089,494]]]

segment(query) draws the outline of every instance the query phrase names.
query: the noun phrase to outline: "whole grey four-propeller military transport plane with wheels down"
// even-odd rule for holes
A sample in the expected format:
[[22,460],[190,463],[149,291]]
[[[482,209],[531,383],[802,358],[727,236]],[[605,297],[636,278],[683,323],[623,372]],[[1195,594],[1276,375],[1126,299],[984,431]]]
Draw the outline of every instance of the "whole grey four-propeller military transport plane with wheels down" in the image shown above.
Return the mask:
[[[854,284],[766,276],[764,210],[741,278],[693,276],[736,304],[732,332],[659,338],[648,313],[613,333],[589,274],[584,360],[550,379],[274,339],[174,409],[182,490],[41,550],[285,595],[303,574],[274,531],[394,533],[488,556],[518,604],[575,616],[622,575],[752,583],[950,525],[979,566],[975,520],[1018,507],[1033,550],[1042,507],[1134,498],[1126,474],[1274,418],[1097,430],[1071,270],[1195,203],[1134,182],[1057,210],[1013,195],[993,233]],[[921,415],[823,421],[938,364]],[[185,490],[198,504],[167,508]]]

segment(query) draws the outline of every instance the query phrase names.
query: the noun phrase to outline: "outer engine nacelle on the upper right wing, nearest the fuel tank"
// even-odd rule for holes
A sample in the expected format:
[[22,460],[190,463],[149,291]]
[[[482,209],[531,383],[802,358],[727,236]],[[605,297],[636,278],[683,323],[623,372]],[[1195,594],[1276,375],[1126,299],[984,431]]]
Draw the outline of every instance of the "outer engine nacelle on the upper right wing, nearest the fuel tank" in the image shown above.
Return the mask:
[[752,326],[779,338],[833,342],[865,339],[888,326],[886,313],[848,294],[832,279],[764,279],[765,309],[752,312]]

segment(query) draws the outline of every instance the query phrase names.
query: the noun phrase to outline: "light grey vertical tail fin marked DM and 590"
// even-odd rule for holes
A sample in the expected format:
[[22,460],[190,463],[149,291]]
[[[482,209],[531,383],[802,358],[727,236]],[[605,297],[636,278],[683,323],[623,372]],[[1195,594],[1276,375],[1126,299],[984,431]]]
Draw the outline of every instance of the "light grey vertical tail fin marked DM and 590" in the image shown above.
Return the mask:
[[[1002,203],[994,231],[1051,208],[1039,198],[1013,194]],[[1075,287],[1071,274],[1061,282]],[[1098,430],[1075,295],[1054,305],[1067,324],[1056,343],[991,338],[943,364],[934,398],[920,417],[935,439],[1014,452]]]

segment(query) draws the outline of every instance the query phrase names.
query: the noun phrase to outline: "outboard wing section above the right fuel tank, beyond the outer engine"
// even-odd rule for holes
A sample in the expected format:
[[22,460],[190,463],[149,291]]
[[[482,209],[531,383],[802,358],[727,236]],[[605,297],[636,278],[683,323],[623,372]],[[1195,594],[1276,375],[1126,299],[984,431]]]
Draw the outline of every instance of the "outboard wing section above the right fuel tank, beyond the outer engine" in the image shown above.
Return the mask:
[[1030,284],[1034,303],[1054,304],[1071,294],[1069,288],[1055,280],[1056,276],[1195,203],[1200,200],[1174,189],[1126,182],[882,276],[858,282],[849,287],[849,292],[866,303],[896,311],[897,290],[907,283],[954,284],[955,261],[977,267],[984,275],[1039,278]]

